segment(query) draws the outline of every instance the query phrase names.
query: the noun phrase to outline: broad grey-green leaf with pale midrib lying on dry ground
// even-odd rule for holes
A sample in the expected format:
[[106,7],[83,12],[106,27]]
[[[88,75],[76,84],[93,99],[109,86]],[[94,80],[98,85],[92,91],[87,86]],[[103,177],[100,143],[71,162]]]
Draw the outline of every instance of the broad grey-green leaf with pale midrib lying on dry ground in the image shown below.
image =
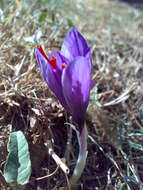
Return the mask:
[[8,156],[4,167],[7,183],[24,185],[31,175],[31,161],[28,143],[21,131],[12,132],[8,142]]

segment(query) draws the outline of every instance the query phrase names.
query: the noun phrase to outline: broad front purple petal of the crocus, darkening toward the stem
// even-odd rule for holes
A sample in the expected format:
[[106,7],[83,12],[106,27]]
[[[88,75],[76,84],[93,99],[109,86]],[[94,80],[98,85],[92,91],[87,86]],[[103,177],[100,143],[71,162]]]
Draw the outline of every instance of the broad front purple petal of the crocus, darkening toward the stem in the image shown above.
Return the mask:
[[91,62],[85,57],[76,57],[62,74],[62,87],[73,121],[83,124],[91,86]]

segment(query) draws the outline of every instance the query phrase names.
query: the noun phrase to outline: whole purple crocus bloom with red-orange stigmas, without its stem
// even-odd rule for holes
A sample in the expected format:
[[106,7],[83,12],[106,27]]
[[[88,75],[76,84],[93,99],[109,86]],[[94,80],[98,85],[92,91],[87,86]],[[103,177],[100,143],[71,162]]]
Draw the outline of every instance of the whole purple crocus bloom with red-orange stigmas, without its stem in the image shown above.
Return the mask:
[[83,36],[71,29],[60,52],[46,56],[41,46],[35,49],[41,73],[60,103],[83,125],[91,88],[91,49]]

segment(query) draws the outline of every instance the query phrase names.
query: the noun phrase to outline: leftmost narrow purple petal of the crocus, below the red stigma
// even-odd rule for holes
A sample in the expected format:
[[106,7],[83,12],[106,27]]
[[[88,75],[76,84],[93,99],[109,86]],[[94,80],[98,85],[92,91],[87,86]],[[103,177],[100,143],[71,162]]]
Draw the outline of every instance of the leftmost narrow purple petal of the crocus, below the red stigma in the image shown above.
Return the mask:
[[[59,62],[62,61],[60,60],[60,56],[58,57],[56,55],[58,54],[55,54],[55,58],[58,58]],[[51,91],[53,91],[59,99],[60,103],[65,107],[65,109],[68,109],[62,91],[60,77],[62,73],[60,73],[59,70],[57,71],[56,69],[53,69],[53,67],[48,63],[37,48],[35,49],[35,56],[44,80],[48,84]]]

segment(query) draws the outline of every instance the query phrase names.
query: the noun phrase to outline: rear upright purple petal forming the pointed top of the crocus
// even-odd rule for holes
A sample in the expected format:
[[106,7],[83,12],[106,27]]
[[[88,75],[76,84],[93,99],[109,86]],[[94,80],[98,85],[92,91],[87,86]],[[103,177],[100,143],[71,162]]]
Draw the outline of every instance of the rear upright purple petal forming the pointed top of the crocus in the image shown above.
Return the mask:
[[72,61],[77,56],[85,56],[89,49],[83,36],[73,28],[64,39],[61,54]]

